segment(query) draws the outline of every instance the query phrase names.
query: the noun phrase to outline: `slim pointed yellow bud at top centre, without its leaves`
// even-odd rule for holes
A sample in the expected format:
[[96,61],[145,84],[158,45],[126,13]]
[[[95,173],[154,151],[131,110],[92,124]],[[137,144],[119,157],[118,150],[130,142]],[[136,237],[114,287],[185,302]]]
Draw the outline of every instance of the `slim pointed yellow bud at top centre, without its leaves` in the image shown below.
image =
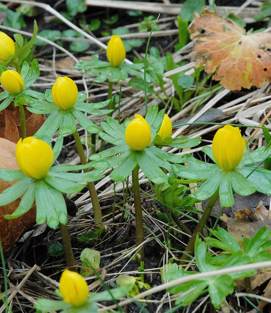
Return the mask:
[[121,38],[113,35],[109,40],[106,50],[106,56],[112,66],[120,66],[126,57],[126,51]]

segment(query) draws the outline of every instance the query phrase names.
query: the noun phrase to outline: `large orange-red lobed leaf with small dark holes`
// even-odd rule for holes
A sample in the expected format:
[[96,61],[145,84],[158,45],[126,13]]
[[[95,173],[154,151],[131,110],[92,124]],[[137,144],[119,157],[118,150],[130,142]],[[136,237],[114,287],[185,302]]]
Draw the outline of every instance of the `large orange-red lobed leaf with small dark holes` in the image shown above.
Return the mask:
[[195,13],[189,26],[197,43],[192,52],[195,67],[205,64],[206,73],[230,90],[262,87],[271,82],[271,34],[251,33],[216,13]]

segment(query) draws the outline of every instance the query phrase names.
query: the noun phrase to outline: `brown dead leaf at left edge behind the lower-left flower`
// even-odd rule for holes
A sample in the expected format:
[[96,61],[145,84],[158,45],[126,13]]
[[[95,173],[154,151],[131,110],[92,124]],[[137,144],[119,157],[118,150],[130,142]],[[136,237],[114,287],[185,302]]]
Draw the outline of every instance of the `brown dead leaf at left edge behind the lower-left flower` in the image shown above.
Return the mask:
[[[0,168],[18,169],[15,159],[16,144],[0,138]],[[0,193],[16,182],[4,182],[0,180]],[[35,205],[23,216],[16,219],[5,219],[4,215],[11,214],[18,207],[21,199],[0,207],[0,236],[4,252],[8,251],[18,240],[21,234],[29,227],[33,226],[36,216]]]

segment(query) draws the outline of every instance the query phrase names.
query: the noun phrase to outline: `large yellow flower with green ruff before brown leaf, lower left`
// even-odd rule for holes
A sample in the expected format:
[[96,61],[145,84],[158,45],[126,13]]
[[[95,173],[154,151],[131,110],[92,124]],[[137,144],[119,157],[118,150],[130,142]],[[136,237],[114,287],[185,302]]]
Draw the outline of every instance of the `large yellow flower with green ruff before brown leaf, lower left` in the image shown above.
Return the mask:
[[19,170],[0,168],[0,179],[16,182],[0,194],[0,206],[22,197],[18,208],[5,218],[18,218],[28,212],[36,203],[36,222],[47,222],[50,228],[59,223],[66,224],[67,208],[62,193],[80,192],[87,182],[101,178],[103,171],[69,173],[91,167],[86,165],[61,164],[51,166],[58,157],[63,136],[58,136],[52,150],[48,143],[34,137],[20,139],[16,146],[16,160]]

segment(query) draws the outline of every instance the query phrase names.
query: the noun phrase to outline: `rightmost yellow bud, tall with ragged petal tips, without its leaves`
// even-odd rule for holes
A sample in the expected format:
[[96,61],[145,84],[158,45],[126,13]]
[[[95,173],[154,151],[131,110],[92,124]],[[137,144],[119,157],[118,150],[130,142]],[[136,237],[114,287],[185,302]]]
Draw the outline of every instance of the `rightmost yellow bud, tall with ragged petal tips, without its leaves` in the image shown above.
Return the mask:
[[241,162],[245,149],[245,140],[238,127],[225,125],[220,128],[213,139],[213,156],[218,166],[230,172]]

